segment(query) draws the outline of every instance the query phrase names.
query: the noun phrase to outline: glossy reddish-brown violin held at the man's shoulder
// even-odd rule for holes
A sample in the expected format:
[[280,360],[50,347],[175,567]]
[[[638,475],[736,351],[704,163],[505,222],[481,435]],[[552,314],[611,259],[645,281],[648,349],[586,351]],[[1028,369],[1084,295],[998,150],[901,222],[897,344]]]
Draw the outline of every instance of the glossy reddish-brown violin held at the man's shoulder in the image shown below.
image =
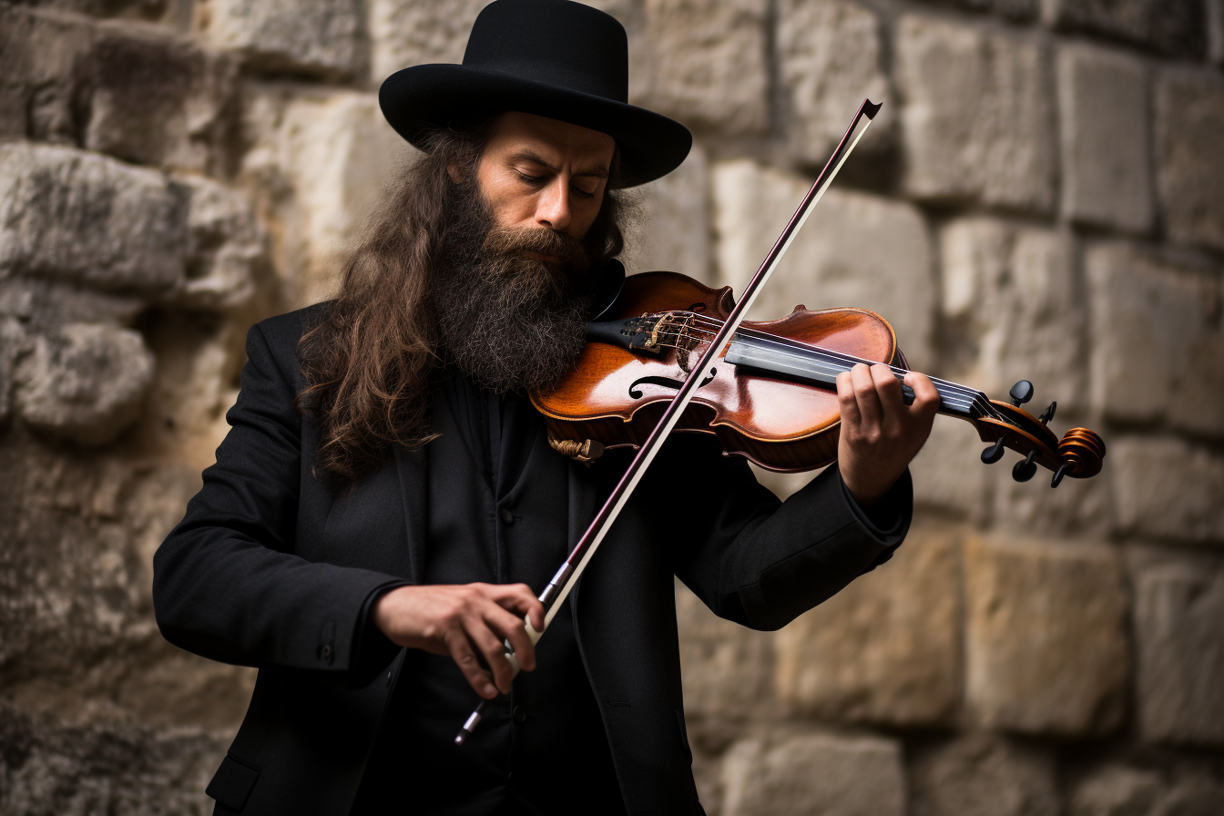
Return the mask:
[[[625,278],[611,308],[588,327],[574,371],[551,393],[532,396],[553,447],[586,461],[606,448],[640,447],[733,308],[730,286],[711,289],[673,272]],[[837,374],[859,362],[886,363],[897,379],[908,369],[896,333],[875,312],[797,306],[781,319],[744,322],[699,374],[676,431],[714,434],[725,455],[766,470],[823,467],[837,456]],[[1016,383],[1007,402],[930,379],[939,412],[972,423],[990,443],[984,462],[998,461],[1005,449],[1023,456],[1012,469],[1016,481],[1031,480],[1038,465],[1054,471],[1051,487],[1064,476],[1100,472],[1099,436],[1072,428],[1059,439],[1048,427],[1058,402],[1037,417],[1021,407],[1033,395],[1028,380]],[[912,390],[902,391],[912,402]]]

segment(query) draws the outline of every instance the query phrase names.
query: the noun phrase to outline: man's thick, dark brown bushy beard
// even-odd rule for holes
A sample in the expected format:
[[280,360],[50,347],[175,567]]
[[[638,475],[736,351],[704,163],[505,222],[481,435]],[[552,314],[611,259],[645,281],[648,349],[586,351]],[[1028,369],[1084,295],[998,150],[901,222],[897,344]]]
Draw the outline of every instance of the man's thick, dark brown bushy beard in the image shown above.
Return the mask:
[[460,190],[454,210],[433,290],[443,355],[497,394],[551,390],[586,341],[590,259],[581,242],[551,229],[497,228],[475,185]]

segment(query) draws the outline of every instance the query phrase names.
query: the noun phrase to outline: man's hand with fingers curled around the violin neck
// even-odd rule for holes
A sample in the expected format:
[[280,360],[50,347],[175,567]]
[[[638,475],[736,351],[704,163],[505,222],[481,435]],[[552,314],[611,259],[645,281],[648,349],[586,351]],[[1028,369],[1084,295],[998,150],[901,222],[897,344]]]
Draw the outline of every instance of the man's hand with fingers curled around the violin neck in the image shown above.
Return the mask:
[[914,390],[913,405],[902,402],[901,382],[885,365],[858,363],[837,374],[837,467],[863,509],[879,502],[909,466],[939,410],[939,391],[925,374],[909,372],[905,382]]

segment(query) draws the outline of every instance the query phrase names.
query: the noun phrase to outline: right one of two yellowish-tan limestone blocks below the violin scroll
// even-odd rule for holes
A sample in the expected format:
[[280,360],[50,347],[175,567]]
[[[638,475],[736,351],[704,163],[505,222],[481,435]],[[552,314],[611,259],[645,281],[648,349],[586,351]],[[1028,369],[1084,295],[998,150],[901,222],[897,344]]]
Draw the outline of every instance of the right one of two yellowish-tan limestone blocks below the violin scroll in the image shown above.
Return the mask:
[[1127,685],[1122,570],[1105,546],[971,540],[966,699],[990,728],[1105,734]]

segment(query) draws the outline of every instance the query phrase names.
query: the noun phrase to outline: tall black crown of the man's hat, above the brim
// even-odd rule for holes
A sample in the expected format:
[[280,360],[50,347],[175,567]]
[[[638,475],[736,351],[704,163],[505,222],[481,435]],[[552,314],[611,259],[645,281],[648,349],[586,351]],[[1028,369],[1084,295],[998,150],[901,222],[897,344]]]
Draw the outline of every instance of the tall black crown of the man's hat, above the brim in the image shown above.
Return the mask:
[[570,0],[494,0],[476,17],[463,64],[621,103],[629,99],[624,27]]

